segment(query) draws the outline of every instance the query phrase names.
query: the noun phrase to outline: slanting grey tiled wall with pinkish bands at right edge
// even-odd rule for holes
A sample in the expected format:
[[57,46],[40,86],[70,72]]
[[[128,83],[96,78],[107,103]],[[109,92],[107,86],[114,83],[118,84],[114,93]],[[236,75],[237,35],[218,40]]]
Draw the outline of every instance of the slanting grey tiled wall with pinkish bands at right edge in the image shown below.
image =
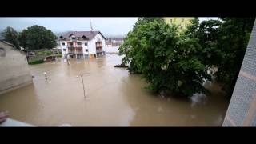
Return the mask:
[[222,126],[256,126],[256,23]]

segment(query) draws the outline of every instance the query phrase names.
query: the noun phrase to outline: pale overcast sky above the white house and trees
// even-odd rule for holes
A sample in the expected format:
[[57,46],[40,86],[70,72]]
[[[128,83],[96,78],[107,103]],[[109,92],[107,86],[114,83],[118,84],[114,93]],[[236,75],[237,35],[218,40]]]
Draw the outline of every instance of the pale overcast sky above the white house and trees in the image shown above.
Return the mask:
[[[55,33],[65,31],[87,31],[90,30],[90,22],[94,30],[100,30],[106,35],[124,35],[132,30],[138,18],[0,18],[0,30],[7,26],[21,31],[28,26],[40,25]],[[207,18],[199,18],[200,21]]]

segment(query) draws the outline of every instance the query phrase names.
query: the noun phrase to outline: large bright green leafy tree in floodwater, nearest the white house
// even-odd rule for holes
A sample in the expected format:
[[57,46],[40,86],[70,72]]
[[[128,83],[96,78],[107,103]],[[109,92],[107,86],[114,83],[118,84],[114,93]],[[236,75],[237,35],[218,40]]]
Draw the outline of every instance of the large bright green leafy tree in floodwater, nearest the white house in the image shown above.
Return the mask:
[[130,72],[140,73],[154,92],[168,92],[191,96],[204,93],[202,83],[210,79],[206,67],[198,58],[198,39],[178,34],[176,26],[169,26],[161,18],[139,18],[128,33],[119,53]]

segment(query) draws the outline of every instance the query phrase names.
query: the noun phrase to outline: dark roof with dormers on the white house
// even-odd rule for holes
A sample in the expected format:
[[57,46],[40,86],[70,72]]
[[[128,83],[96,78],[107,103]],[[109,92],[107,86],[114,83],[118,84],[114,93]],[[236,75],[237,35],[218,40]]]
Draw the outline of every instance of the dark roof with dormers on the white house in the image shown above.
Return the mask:
[[[62,34],[61,36],[63,38],[66,38],[66,40],[70,40],[70,36],[74,35],[76,37],[80,37],[82,38],[83,36],[85,36],[86,38],[89,38],[89,40],[91,40],[92,38],[95,37],[96,34],[102,34],[100,31],[70,31],[67,32],[66,34]],[[60,37],[61,37],[60,36]],[[102,34],[102,37],[105,38]],[[106,38],[105,38],[106,39]]]

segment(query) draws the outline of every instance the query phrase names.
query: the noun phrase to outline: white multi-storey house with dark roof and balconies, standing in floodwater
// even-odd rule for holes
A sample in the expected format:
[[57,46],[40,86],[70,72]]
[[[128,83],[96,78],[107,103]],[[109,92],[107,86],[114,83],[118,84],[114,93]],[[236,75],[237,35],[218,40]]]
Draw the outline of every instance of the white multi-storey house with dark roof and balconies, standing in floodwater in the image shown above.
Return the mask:
[[105,54],[106,38],[100,31],[70,31],[59,37],[62,58],[96,58]]

